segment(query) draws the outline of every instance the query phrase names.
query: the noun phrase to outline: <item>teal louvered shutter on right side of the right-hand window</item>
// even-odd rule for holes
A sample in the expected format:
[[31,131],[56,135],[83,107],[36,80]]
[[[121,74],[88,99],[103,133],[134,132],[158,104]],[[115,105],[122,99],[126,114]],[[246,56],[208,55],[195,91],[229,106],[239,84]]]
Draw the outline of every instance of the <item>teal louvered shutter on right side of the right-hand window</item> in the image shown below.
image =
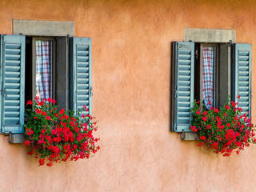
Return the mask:
[[251,44],[235,43],[232,49],[232,100],[242,107],[242,114],[249,111],[250,117]]

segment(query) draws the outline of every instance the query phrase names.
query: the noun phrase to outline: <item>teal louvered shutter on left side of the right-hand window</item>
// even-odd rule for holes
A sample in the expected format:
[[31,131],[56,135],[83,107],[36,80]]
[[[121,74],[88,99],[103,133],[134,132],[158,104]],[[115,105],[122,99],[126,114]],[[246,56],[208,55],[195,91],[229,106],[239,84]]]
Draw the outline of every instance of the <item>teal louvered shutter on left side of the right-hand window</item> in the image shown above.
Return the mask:
[[194,42],[173,42],[172,130],[189,132],[194,102]]

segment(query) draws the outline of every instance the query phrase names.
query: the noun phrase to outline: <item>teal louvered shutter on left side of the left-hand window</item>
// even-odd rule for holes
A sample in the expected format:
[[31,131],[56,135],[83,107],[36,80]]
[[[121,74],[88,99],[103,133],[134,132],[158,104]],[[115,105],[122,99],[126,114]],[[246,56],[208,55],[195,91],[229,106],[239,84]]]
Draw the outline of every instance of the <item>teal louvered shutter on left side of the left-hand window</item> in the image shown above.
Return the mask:
[[22,35],[1,35],[1,132],[23,133],[25,45]]

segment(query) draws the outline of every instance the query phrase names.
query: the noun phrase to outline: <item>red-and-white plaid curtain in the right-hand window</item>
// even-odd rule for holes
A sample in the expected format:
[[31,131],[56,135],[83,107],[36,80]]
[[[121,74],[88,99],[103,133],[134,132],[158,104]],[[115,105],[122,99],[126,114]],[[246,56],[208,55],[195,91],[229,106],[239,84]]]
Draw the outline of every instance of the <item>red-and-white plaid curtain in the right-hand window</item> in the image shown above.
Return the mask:
[[215,47],[203,47],[202,58],[202,100],[210,109],[214,106]]

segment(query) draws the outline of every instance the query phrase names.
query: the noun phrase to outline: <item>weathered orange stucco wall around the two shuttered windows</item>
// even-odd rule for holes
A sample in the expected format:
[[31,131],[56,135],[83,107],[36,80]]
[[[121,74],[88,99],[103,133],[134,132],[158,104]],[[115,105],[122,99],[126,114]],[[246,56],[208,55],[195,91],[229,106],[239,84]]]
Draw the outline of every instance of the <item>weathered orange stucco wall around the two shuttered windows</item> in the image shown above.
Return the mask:
[[33,19],[73,21],[75,36],[92,38],[102,149],[42,167],[0,135],[0,191],[256,191],[255,146],[222,158],[170,132],[170,42],[185,28],[234,29],[252,43],[255,121],[255,9],[254,0],[1,0],[0,34]]

